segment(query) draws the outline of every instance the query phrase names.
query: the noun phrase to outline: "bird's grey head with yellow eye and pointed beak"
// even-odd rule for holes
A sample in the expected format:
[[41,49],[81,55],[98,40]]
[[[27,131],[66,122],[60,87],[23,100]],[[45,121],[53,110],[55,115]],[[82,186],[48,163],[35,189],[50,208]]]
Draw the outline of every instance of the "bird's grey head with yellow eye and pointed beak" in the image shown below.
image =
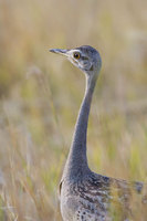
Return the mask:
[[99,53],[92,46],[83,45],[72,50],[51,49],[50,52],[62,54],[87,76],[97,76],[102,66]]

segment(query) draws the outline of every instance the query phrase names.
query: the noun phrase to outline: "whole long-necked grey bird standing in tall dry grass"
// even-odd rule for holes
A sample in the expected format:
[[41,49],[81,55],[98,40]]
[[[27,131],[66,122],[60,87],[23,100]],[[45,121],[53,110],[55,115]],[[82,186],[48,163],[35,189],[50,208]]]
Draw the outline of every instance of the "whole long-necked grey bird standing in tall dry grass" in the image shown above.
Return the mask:
[[140,194],[143,183],[128,183],[97,175],[91,171],[87,164],[86,131],[92,96],[102,65],[99,53],[92,46],[55,49],[51,52],[65,55],[86,76],[85,95],[60,183],[62,218],[64,221],[112,221],[113,213],[116,217],[119,212],[118,220],[128,220],[132,217],[130,198]]

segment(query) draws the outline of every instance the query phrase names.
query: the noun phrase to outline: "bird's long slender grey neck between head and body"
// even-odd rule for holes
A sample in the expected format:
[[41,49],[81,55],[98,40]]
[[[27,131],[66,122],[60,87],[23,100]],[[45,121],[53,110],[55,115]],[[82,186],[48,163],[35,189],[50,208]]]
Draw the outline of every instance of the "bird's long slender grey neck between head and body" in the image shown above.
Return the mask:
[[86,134],[88,114],[91,109],[92,96],[97,77],[91,78],[86,76],[85,95],[77,116],[73,141],[67,157],[63,176],[75,178],[77,175],[82,176],[85,171],[90,170],[86,157]]

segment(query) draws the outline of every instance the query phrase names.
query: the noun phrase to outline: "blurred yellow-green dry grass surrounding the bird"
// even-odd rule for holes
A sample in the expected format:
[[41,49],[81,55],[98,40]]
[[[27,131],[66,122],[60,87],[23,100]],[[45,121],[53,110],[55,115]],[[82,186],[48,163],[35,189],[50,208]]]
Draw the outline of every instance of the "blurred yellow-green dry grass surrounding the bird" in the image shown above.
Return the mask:
[[0,221],[61,220],[57,185],[85,82],[49,49],[83,44],[103,60],[90,166],[147,181],[147,1],[0,0]]

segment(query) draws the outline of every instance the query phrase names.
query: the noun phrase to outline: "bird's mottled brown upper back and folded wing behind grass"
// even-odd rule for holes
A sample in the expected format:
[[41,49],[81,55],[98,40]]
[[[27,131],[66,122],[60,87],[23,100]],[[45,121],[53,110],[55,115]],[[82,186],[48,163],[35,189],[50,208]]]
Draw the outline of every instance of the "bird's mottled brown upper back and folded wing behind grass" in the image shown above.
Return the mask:
[[74,194],[78,194],[93,202],[109,201],[127,202],[134,194],[141,196],[147,201],[147,186],[143,182],[129,182],[91,172],[72,187]]

